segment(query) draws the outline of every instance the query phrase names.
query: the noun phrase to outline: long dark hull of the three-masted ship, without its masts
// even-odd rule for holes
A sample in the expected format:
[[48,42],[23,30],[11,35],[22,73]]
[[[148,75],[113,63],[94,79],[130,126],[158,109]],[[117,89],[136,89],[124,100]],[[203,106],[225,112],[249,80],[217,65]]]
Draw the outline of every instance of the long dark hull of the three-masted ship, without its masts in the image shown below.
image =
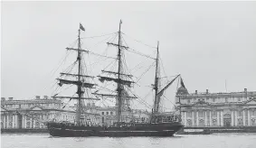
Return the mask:
[[76,126],[49,123],[52,136],[86,137],[86,136],[173,136],[183,125],[180,123],[137,124],[125,127]]

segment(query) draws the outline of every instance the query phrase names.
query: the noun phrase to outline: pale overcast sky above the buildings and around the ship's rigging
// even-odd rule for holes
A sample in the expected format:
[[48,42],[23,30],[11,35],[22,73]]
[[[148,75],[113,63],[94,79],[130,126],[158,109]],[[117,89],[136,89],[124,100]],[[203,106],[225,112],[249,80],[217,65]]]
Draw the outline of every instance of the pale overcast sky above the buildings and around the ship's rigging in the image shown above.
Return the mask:
[[225,81],[229,92],[256,90],[256,2],[4,2],[1,17],[1,97],[51,95],[79,23],[93,36],[117,32],[120,19],[129,36],[160,42],[167,75],[189,92],[225,92]]

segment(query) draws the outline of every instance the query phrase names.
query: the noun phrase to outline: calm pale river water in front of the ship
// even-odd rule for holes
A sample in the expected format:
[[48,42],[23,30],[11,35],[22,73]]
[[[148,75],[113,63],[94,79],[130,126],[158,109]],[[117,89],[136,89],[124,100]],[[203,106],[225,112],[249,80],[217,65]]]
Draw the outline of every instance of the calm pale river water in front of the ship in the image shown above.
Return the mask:
[[51,137],[1,134],[2,148],[256,148],[256,134],[182,134],[173,137]]

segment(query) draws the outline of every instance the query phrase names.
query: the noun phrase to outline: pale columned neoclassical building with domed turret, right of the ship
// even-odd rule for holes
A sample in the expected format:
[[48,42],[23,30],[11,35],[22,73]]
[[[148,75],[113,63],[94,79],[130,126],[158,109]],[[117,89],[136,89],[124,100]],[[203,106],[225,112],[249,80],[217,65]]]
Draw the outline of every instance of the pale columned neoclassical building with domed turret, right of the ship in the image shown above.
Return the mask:
[[176,109],[181,111],[185,127],[245,127],[256,126],[256,91],[189,94],[178,88]]

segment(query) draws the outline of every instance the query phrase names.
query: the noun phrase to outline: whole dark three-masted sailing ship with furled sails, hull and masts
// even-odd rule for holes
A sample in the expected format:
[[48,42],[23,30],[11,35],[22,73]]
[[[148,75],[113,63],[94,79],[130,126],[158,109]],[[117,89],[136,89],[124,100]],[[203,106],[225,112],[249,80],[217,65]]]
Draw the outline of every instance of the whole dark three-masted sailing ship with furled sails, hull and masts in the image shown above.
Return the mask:
[[[155,84],[152,85],[154,89],[154,102],[153,107],[151,108],[150,119],[146,123],[137,123],[134,120],[127,120],[127,113],[132,110],[128,104],[130,99],[137,99],[135,94],[129,92],[135,83],[131,78],[133,75],[129,74],[125,69],[126,61],[123,59],[125,51],[128,49],[122,43],[121,37],[121,24],[119,23],[119,32],[118,33],[118,42],[107,42],[108,45],[115,47],[118,50],[116,60],[118,61],[118,69],[103,69],[101,74],[98,77],[90,76],[85,74],[83,71],[84,68],[84,56],[83,52],[89,53],[90,51],[81,49],[81,31],[85,31],[83,26],[80,23],[79,35],[78,35],[78,45],[77,48],[67,48],[68,51],[76,51],[77,56],[75,63],[77,64],[78,71],[77,73],[62,72],[61,77],[58,80],[59,86],[62,85],[72,85],[76,86],[76,94],[72,97],[61,97],[58,94],[53,97],[61,99],[75,99],[76,104],[76,117],[74,123],[63,123],[51,121],[47,123],[47,128],[49,133],[52,136],[60,137],[85,137],[85,136],[109,136],[109,137],[122,137],[122,136],[173,136],[177,131],[179,131],[184,125],[181,123],[180,115],[170,116],[166,113],[162,113],[160,110],[161,97],[170,85],[173,84],[175,79],[180,78],[180,75],[175,76],[175,79],[172,79],[167,85],[161,88],[160,85],[160,67],[159,67],[159,51],[158,44],[156,48],[156,70],[155,70]],[[64,79],[67,78],[73,79]],[[114,83],[115,89],[112,90],[110,94],[100,93],[97,90],[98,85],[95,84],[94,80],[98,78],[100,83],[111,82]],[[92,92],[92,89],[96,91]],[[107,87],[106,87],[107,88]],[[108,89],[108,88],[107,88]],[[90,95],[89,95],[90,90]],[[112,125],[86,125],[84,122],[84,100],[100,100],[103,97],[112,98],[115,101],[116,108],[116,122]]]

